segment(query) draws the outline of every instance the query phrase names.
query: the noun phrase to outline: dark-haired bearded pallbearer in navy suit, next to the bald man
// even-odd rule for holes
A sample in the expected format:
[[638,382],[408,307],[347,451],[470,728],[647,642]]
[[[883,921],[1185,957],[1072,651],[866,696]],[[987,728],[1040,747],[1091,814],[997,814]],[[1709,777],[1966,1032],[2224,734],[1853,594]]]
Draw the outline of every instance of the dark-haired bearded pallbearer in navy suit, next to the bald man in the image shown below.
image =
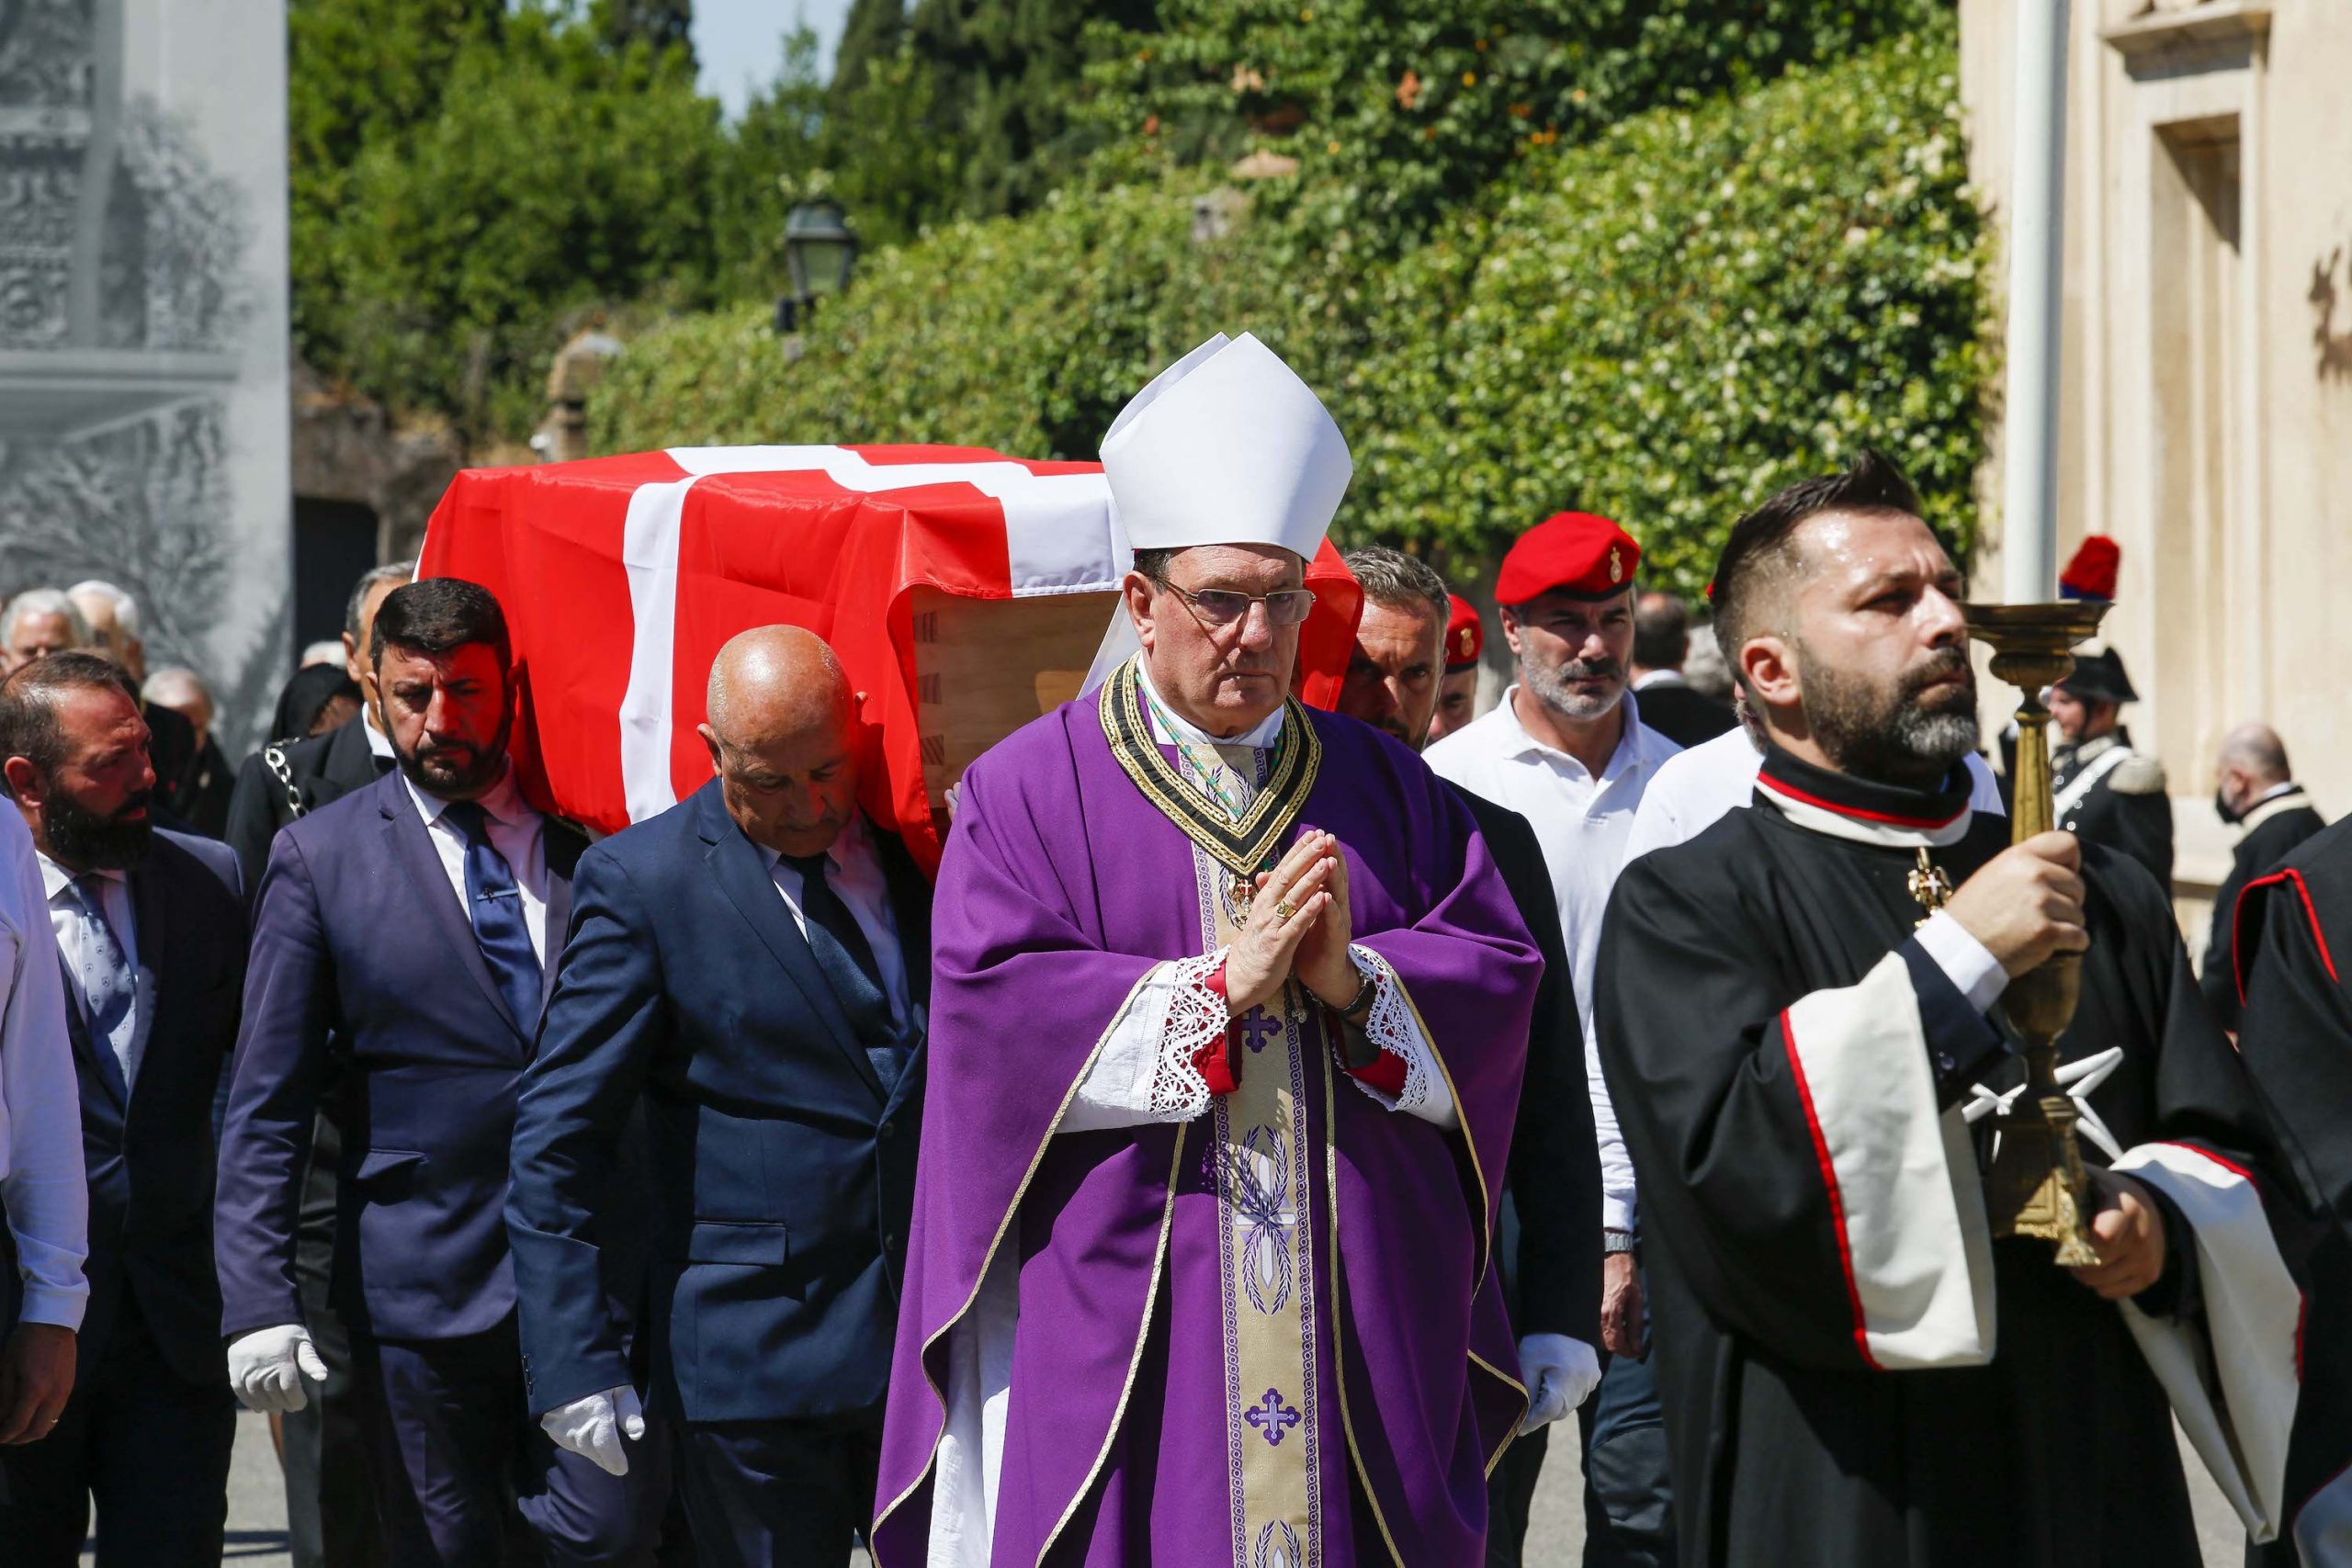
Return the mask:
[[[294,1232],[332,1039],[348,1053],[332,1291],[390,1559],[501,1563],[527,1530],[548,1563],[642,1563],[668,1476],[619,1481],[532,1425],[506,1253],[515,1091],[581,839],[515,790],[515,682],[487,590],[400,588],[372,644],[367,701],[400,771],[285,827],[261,882],[221,1143],[230,1382],[285,1410],[325,1373]],[[630,1298],[635,1281],[588,1288]]]

